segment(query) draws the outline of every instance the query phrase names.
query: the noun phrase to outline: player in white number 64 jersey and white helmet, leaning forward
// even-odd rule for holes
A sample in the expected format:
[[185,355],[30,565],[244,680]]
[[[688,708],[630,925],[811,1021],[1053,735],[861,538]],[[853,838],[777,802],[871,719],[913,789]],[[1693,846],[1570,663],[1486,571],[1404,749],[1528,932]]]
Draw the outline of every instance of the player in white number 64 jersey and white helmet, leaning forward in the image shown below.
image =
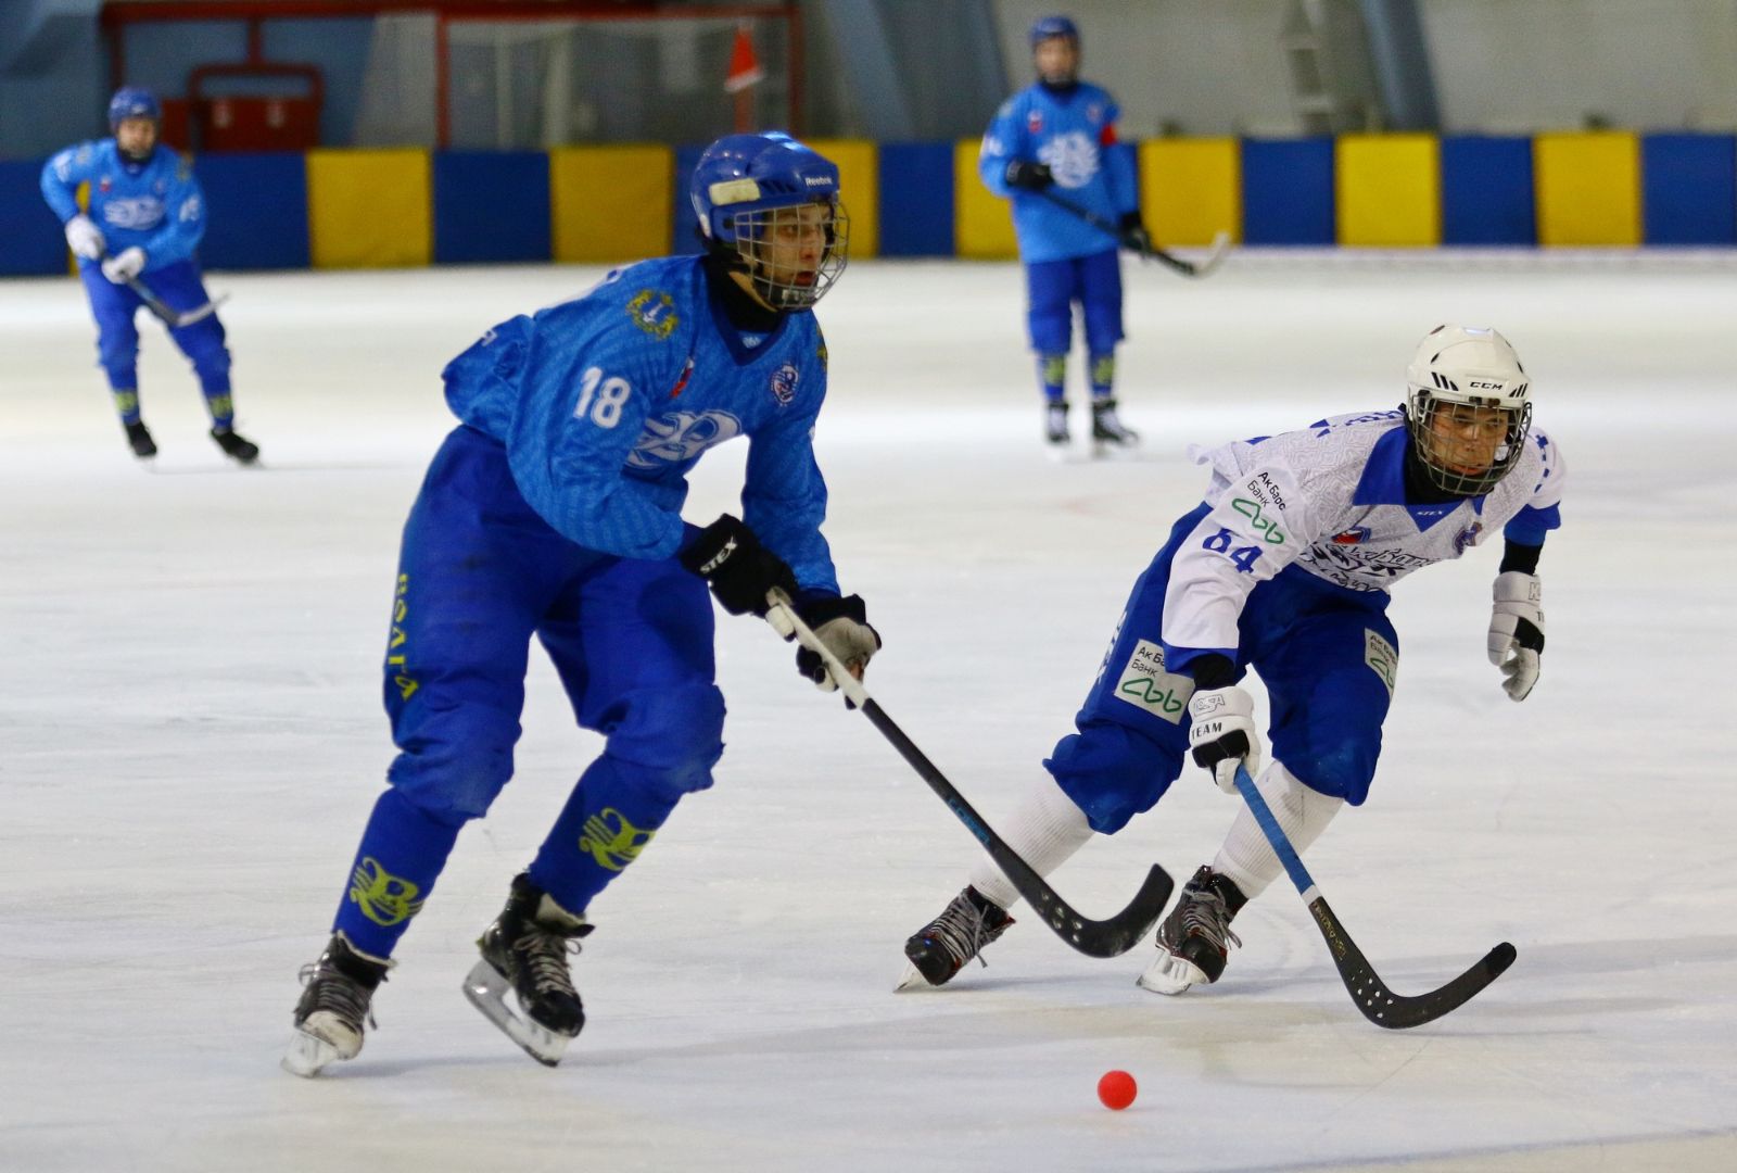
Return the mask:
[[[1398,671],[1390,587],[1506,539],[1489,629],[1503,688],[1525,700],[1544,650],[1537,560],[1560,525],[1563,462],[1532,427],[1529,377],[1489,328],[1431,330],[1407,368],[1403,410],[1339,415],[1303,431],[1195,448],[1205,500],[1176,521],[1134,584],[1098,679],[1001,829],[1040,874],[1093,834],[1159,801],[1185,754],[1235,792],[1256,785],[1299,852],[1341,806],[1362,805]],[[1252,667],[1271,699],[1273,761],[1261,770]],[[1159,926],[1139,984],[1166,994],[1214,982],[1238,944],[1230,921],[1282,872],[1242,810],[1218,857]],[[1001,937],[1018,900],[983,857],[971,885],[907,944],[907,984],[941,985]]]

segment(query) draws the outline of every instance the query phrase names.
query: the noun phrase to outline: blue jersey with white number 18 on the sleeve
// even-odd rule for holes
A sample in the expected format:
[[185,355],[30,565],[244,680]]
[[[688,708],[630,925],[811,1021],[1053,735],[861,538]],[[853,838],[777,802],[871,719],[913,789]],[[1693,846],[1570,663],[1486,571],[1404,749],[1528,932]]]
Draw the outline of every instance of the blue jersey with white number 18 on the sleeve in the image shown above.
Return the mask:
[[566,539],[620,558],[683,542],[688,469],[749,438],[742,520],[804,591],[837,594],[820,535],[813,429],[827,344],[813,313],[768,335],[724,316],[700,257],[615,269],[589,294],[488,330],[445,370],[446,401],[507,447],[525,500]]

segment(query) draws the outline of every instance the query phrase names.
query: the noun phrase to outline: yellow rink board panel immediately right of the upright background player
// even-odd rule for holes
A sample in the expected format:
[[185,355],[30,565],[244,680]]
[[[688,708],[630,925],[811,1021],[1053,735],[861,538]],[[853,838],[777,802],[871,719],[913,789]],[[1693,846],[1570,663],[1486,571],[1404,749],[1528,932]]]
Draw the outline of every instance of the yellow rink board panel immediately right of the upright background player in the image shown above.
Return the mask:
[[1139,144],[1139,209],[1153,243],[1242,240],[1242,148],[1237,139],[1148,139]]

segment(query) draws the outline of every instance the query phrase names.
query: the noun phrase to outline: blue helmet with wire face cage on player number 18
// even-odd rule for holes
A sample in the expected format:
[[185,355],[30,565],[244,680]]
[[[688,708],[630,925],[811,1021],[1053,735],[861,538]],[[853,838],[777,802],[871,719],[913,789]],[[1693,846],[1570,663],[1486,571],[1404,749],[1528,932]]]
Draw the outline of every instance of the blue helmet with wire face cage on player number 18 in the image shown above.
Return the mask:
[[726,134],[688,182],[700,235],[773,309],[808,309],[849,252],[837,163],[782,130]]

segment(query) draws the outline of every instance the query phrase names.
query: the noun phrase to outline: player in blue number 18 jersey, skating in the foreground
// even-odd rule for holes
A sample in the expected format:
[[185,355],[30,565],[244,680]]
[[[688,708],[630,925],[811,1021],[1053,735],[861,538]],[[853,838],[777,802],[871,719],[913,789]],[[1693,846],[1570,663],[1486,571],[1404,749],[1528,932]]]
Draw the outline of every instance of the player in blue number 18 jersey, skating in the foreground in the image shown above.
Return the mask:
[[[735,615],[766,615],[782,587],[858,674],[881,646],[820,533],[827,346],[809,309],[846,262],[837,186],[837,167],[789,136],[719,139],[690,188],[703,255],[617,269],[446,367],[462,422],[405,525],[386,652],[400,754],[304,973],[292,1072],[361,1048],[393,947],[512,773],[533,636],[578,723],[608,740],[478,942],[466,992],[551,1065],[584,1025],[566,956],[592,898],[723,754],[707,582]],[[750,441],[742,520],[686,525],[688,469],[736,436]],[[813,653],[797,667],[835,686]]]

